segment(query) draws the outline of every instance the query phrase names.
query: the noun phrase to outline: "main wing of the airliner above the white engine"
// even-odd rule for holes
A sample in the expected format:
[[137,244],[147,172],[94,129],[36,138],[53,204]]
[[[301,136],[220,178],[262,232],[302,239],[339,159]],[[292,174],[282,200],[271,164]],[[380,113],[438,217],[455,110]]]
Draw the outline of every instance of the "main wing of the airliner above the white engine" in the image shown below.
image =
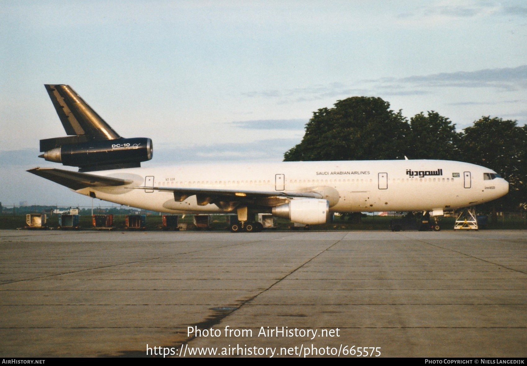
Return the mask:
[[306,197],[322,198],[317,192],[282,192],[282,191],[252,191],[233,189],[211,189],[211,188],[171,188],[171,187],[127,187],[130,189],[157,190],[161,192],[172,192],[176,202],[182,202],[190,196],[196,196],[198,205],[203,206],[219,201],[247,202],[260,198],[270,197]]

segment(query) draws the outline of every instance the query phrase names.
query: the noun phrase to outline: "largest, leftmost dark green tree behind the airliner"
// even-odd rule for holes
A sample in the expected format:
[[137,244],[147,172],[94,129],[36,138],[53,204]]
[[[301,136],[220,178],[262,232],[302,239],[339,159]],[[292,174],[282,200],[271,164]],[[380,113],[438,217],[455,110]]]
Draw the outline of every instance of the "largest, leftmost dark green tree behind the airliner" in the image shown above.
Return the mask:
[[317,110],[284,161],[402,158],[409,125],[401,110],[395,113],[389,106],[381,98],[351,97]]

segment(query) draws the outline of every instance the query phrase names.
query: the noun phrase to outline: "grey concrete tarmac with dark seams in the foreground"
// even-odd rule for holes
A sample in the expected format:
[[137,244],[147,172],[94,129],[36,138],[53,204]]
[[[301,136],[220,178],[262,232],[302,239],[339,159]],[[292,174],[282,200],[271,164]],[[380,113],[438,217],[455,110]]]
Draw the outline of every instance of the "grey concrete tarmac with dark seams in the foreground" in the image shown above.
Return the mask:
[[526,357],[526,327],[524,230],[0,231],[0,357]]

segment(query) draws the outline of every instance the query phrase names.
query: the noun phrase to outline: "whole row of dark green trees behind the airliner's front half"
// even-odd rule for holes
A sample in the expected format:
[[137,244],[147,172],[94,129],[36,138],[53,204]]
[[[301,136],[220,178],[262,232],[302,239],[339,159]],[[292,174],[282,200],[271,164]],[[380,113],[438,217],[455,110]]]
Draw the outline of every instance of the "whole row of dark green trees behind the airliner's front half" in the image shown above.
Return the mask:
[[527,206],[527,126],[516,120],[483,116],[457,131],[436,111],[408,121],[402,111],[375,97],[338,100],[321,108],[306,124],[300,144],[284,161],[441,159],[490,168],[509,181],[509,194],[494,205]]

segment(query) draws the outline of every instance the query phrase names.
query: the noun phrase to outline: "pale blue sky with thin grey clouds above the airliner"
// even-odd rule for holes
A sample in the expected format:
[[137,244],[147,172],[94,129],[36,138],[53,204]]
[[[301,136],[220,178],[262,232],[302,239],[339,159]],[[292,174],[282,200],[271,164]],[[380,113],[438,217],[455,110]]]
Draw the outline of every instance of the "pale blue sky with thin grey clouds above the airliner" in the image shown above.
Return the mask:
[[37,157],[40,139],[65,136],[44,84],[150,137],[143,166],[280,161],[314,111],[352,96],[458,130],[488,115],[524,125],[527,4],[0,0],[4,206],[91,205],[25,172],[64,168]]

